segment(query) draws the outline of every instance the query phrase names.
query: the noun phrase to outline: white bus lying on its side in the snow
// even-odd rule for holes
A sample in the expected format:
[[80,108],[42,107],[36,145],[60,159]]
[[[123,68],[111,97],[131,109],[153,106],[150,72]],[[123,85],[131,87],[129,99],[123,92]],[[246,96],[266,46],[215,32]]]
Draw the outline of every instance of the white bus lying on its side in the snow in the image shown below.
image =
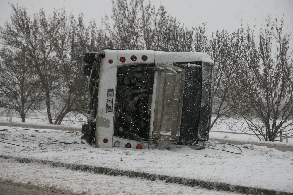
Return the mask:
[[[213,61],[206,53],[107,48],[84,54],[88,123],[98,148],[197,148],[209,138]],[[198,145],[196,145],[198,144]]]

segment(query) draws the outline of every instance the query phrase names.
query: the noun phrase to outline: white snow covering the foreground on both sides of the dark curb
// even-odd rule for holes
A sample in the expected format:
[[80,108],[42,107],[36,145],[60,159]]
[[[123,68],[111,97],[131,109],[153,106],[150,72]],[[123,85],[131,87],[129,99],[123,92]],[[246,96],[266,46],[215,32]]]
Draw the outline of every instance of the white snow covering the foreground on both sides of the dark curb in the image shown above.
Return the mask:
[[[133,170],[293,193],[293,152],[281,152],[273,148],[252,144],[239,146],[242,149],[241,154],[208,148],[203,150],[189,148],[171,150],[98,149],[81,144],[80,132],[49,129],[29,131],[21,130],[21,128],[9,129],[6,126],[0,126],[0,129],[8,129],[0,130],[0,141],[21,145],[0,142],[1,155]],[[211,133],[211,137],[212,135]],[[216,143],[218,142],[210,140],[206,146],[240,152],[238,148],[233,146],[225,145],[223,147]],[[292,143],[279,144],[293,147]],[[14,160],[0,159],[0,167],[3,167],[0,169],[0,181],[2,182],[23,182],[76,193],[219,194],[218,191],[169,184],[163,181],[113,177],[66,170],[50,165],[18,163]],[[78,185],[76,185],[77,183]],[[223,193],[227,194],[228,192]]]

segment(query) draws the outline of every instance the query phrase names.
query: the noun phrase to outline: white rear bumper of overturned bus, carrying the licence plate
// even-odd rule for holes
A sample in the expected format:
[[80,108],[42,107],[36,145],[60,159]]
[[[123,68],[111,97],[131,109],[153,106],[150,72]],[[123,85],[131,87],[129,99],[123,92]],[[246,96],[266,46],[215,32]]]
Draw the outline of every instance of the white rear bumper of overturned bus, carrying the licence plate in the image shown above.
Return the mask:
[[[103,52],[102,52],[103,53]],[[112,59],[113,63],[108,60]],[[96,138],[98,148],[111,148],[114,129],[115,94],[117,80],[117,50],[107,50],[100,63],[99,97]],[[109,101],[111,100],[111,101]],[[107,106],[112,106],[107,110]],[[104,143],[104,139],[108,142]]]

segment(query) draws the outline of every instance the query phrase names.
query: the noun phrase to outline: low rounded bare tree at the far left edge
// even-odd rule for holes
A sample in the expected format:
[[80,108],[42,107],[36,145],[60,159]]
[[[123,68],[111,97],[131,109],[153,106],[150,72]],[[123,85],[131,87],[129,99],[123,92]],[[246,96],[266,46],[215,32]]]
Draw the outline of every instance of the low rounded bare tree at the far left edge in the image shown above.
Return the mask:
[[25,122],[29,111],[41,109],[43,90],[39,78],[29,69],[25,51],[0,51],[0,107],[15,110]]

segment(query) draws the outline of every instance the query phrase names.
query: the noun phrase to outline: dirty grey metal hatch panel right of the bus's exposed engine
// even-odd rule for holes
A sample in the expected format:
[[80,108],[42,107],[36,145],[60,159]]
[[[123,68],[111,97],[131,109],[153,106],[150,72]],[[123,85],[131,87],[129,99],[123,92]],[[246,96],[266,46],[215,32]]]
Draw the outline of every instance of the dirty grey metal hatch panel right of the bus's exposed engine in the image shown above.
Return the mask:
[[185,70],[159,64],[154,78],[150,136],[156,143],[179,141]]

